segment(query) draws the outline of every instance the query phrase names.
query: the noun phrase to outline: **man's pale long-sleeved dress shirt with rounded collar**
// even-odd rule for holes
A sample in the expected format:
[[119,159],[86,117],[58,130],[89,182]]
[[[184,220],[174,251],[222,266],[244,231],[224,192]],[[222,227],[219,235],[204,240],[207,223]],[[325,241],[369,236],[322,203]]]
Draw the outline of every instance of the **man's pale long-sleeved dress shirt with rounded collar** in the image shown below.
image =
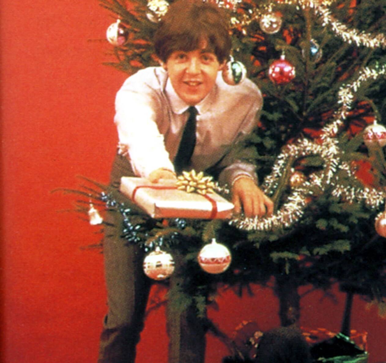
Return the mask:
[[[158,168],[174,170],[173,160],[188,119],[187,105],[178,97],[162,67],[149,67],[127,78],[117,93],[115,118],[119,146],[127,151],[135,175],[147,177]],[[196,171],[216,165],[224,168],[219,181],[231,183],[237,175],[256,180],[255,167],[234,161],[225,164],[235,142],[257,125],[262,96],[249,79],[230,86],[218,73],[215,86],[195,105],[196,146],[191,165]]]

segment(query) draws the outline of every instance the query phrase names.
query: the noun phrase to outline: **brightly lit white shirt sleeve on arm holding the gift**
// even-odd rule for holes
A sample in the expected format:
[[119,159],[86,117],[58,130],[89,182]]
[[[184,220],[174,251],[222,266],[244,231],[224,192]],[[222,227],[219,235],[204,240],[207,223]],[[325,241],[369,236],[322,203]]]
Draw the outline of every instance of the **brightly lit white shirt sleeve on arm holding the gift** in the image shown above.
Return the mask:
[[174,170],[157,121],[163,117],[162,100],[146,84],[130,78],[115,99],[114,122],[120,147],[127,150],[135,175],[147,177],[158,168]]

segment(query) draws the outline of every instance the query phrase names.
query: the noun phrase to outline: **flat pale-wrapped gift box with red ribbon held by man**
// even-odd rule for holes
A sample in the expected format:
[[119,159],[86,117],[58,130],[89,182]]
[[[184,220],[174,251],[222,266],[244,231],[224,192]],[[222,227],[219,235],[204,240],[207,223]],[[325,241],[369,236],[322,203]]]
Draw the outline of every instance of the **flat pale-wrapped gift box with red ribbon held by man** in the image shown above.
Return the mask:
[[119,190],[153,218],[230,219],[234,207],[217,193],[177,190],[173,180],[151,183],[146,178],[124,176]]

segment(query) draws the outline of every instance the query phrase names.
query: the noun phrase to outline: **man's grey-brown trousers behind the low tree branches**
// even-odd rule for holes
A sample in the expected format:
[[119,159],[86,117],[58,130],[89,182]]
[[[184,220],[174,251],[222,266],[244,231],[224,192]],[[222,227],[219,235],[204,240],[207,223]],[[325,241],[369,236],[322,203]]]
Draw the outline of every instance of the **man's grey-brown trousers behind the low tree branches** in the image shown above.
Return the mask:
[[[118,187],[120,176],[133,175],[126,158],[117,156],[111,185]],[[135,347],[144,327],[144,315],[152,280],[143,272],[144,251],[128,243],[122,233],[122,215],[108,212],[103,254],[108,312],[103,321],[98,363],[134,363]],[[176,263],[169,284],[181,283],[182,256],[173,253]],[[169,363],[203,363],[205,327],[196,316],[195,306],[167,306]],[[156,332],[155,332],[156,334]]]

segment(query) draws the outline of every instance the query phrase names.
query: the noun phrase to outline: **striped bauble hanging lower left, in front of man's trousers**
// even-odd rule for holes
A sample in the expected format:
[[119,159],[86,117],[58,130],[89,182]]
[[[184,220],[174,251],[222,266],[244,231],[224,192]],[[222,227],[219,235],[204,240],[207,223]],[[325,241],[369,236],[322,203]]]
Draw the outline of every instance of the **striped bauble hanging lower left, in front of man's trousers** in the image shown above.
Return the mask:
[[174,271],[174,260],[170,253],[156,247],[155,251],[145,257],[143,268],[146,276],[153,280],[165,280]]

